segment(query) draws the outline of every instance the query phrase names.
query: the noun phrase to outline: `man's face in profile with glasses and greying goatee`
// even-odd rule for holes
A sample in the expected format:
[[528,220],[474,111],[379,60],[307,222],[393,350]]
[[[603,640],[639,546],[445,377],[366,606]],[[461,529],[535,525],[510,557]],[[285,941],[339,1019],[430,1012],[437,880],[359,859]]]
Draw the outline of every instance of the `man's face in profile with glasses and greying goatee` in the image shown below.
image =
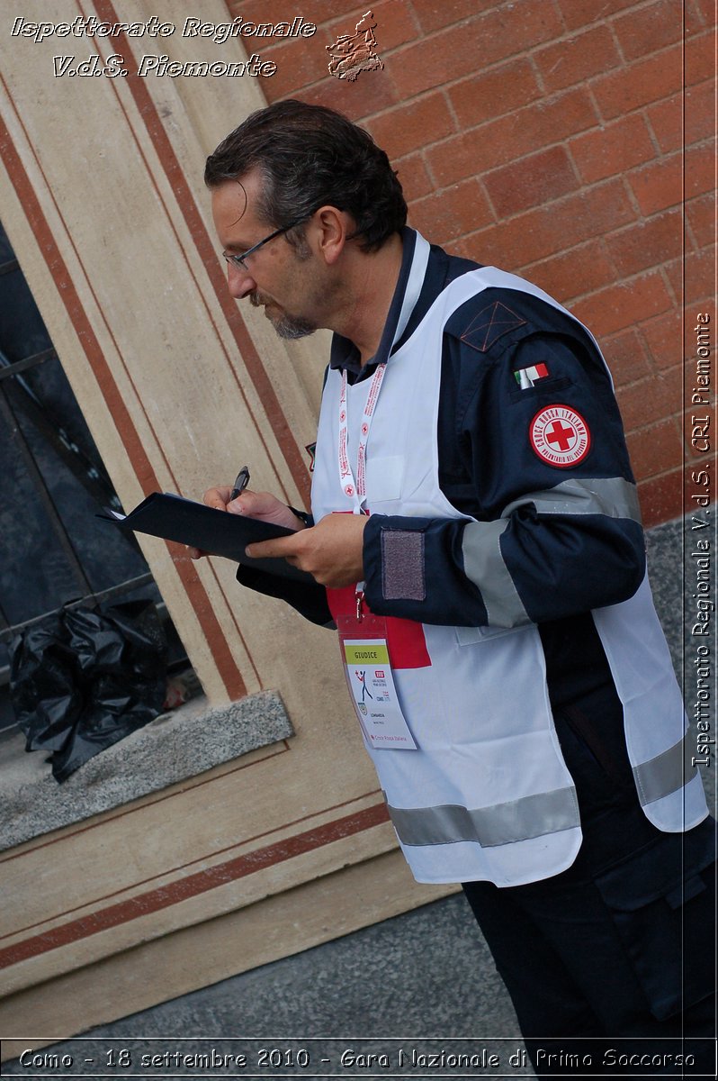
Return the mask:
[[[242,255],[274,231],[256,213],[263,181],[253,170],[238,181],[226,181],[212,191],[212,213],[223,250]],[[246,269],[227,264],[229,291],[263,307],[280,337],[299,338],[317,326],[322,290],[311,250],[293,248],[284,235],[275,237],[246,262]]]

